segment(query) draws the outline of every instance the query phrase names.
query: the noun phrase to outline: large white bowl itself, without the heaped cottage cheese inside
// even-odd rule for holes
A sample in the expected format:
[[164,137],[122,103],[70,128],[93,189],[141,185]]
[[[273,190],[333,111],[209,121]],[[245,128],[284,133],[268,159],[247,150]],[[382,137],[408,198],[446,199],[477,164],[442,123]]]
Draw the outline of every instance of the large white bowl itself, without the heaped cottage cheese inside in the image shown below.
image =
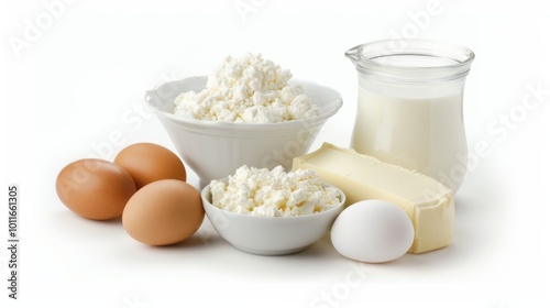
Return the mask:
[[173,113],[179,94],[206,87],[207,77],[190,77],[161,85],[146,92],[146,105],[168,132],[184,162],[199,176],[204,187],[224,178],[242,165],[292,167],[293,158],[306,154],[322,125],[342,107],[336,90],[307,81],[306,95],[319,107],[320,116],[273,124],[228,123],[197,120]]

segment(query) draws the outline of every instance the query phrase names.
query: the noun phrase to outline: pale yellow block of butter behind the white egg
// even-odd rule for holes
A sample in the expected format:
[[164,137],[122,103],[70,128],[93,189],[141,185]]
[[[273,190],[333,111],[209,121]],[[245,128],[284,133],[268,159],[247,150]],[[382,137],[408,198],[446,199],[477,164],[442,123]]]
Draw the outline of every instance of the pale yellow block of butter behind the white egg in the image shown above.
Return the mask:
[[345,194],[346,206],[366,199],[394,202],[415,227],[409,253],[448,246],[453,238],[454,198],[451,189],[431,177],[362,155],[330,143],[294,158],[293,169],[314,169]]

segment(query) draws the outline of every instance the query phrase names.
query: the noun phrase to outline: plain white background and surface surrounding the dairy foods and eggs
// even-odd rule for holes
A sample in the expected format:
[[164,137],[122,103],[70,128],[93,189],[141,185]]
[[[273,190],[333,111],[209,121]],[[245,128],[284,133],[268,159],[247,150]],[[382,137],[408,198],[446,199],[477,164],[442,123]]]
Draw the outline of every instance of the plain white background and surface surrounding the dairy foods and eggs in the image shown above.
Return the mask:
[[[2,307],[550,304],[550,12],[542,1],[59,1],[0,8],[1,239],[8,185],[19,184],[21,198],[21,300],[8,299],[1,249]],[[436,11],[421,19],[427,6]],[[473,160],[448,249],[353,266],[327,237],[299,254],[255,256],[232,249],[208,223],[183,244],[148,248],[120,221],[78,218],[55,194],[55,177],[72,161],[111,160],[143,141],[174,150],[143,109],[144,91],[207,75],[224,56],[246,52],[339,90],[344,106],[312,150],[323,141],[348,146],[356,73],[343,53],[396,35],[476,53],[464,98]],[[541,89],[539,100],[529,87]],[[113,132],[121,142],[109,140]],[[475,154],[480,143],[490,145],[485,157]],[[193,173],[189,182],[198,185]]]

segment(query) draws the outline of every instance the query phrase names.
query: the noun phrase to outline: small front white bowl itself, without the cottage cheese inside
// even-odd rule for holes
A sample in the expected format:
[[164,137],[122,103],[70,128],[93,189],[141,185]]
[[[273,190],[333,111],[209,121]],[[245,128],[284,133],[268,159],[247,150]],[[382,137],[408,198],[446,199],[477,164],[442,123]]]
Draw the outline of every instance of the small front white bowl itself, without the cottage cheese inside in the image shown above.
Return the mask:
[[220,209],[211,204],[210,185],[201,190],[201,196],[208,219],[231,245],[252,254],[284,255],[307,249],[330,230],[345,202],[345,195],[338,191],[338,206],[298,217],[257,217]]

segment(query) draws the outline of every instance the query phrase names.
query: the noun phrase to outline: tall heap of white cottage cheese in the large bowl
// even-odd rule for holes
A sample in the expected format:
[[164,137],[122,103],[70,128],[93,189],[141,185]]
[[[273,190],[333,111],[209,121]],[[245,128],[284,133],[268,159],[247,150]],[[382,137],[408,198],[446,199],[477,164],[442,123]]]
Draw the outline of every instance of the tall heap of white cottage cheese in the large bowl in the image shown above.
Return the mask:
[[277,123],[319,116],[318,107],[293,75],[261,54],[228,56],[199,92],[180,94],[174,113],[199,120]]

